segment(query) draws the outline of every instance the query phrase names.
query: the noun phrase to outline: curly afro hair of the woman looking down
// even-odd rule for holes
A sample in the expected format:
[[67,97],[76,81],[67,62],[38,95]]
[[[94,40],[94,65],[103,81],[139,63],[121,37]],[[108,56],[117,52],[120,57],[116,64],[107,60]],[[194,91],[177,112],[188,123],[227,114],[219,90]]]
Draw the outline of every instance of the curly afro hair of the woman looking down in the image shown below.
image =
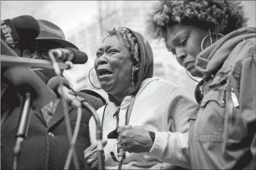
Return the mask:
[[188,24],[224,35],[247,26],[241,1],[158,1],[146,19],[151,39],[162,39],[166,27]]

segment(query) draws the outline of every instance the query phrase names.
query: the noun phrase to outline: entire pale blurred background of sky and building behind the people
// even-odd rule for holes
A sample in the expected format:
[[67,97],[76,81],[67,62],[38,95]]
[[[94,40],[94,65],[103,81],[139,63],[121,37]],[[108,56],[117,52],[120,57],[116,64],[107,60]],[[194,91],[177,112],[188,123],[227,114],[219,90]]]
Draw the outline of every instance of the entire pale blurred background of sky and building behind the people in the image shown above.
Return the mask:
[[[154,1],[1,1],[1,20],[21,15],[45,19],[63,29],[66,39],[88,55],[88,62],[75,65],[64,72],[74,90],[94,88],[88,78],[93,67],[96,50],[113,27],[129,27],[145,34],[145,15]],[[255,25],[255,1],[243,1],[249,18],[248,27]],[[149,40],[149,39],[148,39]],[[149,40],[154,54],[154,75],[177,83],[194,96],[196,82],[191,80],[185,69],[178,65],[163,42]],[[94,69],[90,74],[93,85],[100,87]],[[97,90],[107,97],[103,90]]]

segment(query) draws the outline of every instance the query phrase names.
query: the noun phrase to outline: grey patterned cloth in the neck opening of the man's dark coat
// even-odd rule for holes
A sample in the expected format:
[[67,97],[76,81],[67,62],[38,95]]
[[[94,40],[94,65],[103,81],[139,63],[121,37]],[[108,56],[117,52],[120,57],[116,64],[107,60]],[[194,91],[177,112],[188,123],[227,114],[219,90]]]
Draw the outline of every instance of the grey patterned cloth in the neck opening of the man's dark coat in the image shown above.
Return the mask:
[[[73,110],[73,107],[69,106],[68,103],[67,103],[67,106],[68,106],[68,114],[69,114],[71,110]],[[51,128],[51,126],[58,123],[58,121],[61,120],[62,118],[64,118],[64,107],[63,107],[62,100],[59,100],[58,106],[54,111],[53,118],[51,119],[48,128]]]

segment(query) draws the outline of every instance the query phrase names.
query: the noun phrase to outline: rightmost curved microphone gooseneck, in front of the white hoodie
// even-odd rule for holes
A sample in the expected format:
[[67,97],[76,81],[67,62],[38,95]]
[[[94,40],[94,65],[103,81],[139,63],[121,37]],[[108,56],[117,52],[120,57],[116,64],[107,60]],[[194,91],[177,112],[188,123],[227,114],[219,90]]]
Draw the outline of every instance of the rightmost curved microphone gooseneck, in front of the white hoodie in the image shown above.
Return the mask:
[[[88,102],[82,101],[82,105],[87,108],[90,112],[91,115],[93,115],[93,118],[95,119],[96,122],[96,140],[98,141],[97,144],[97,152],[98,152],[98,161],[99,161],[99,166],[98,169],[105,169],[105,160],[104,160],[104,148],[102,144],[102,130],[101,130],[101,125],[100,125],[100,118],[98,114],[96,113],[95,108],[91,106]],[[84,160],[84,164],[86,161]]]

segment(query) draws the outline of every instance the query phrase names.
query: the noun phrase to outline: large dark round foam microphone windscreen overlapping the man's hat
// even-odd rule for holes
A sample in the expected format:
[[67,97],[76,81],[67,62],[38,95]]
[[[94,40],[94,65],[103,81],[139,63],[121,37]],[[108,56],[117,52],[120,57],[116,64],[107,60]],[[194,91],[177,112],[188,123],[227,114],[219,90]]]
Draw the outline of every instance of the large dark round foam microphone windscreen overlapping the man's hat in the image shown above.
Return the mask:
[[18,16],[11,19],[19,35],[19,42],[29,44],[38,37],[40,27],[38,21],[32,16]]

